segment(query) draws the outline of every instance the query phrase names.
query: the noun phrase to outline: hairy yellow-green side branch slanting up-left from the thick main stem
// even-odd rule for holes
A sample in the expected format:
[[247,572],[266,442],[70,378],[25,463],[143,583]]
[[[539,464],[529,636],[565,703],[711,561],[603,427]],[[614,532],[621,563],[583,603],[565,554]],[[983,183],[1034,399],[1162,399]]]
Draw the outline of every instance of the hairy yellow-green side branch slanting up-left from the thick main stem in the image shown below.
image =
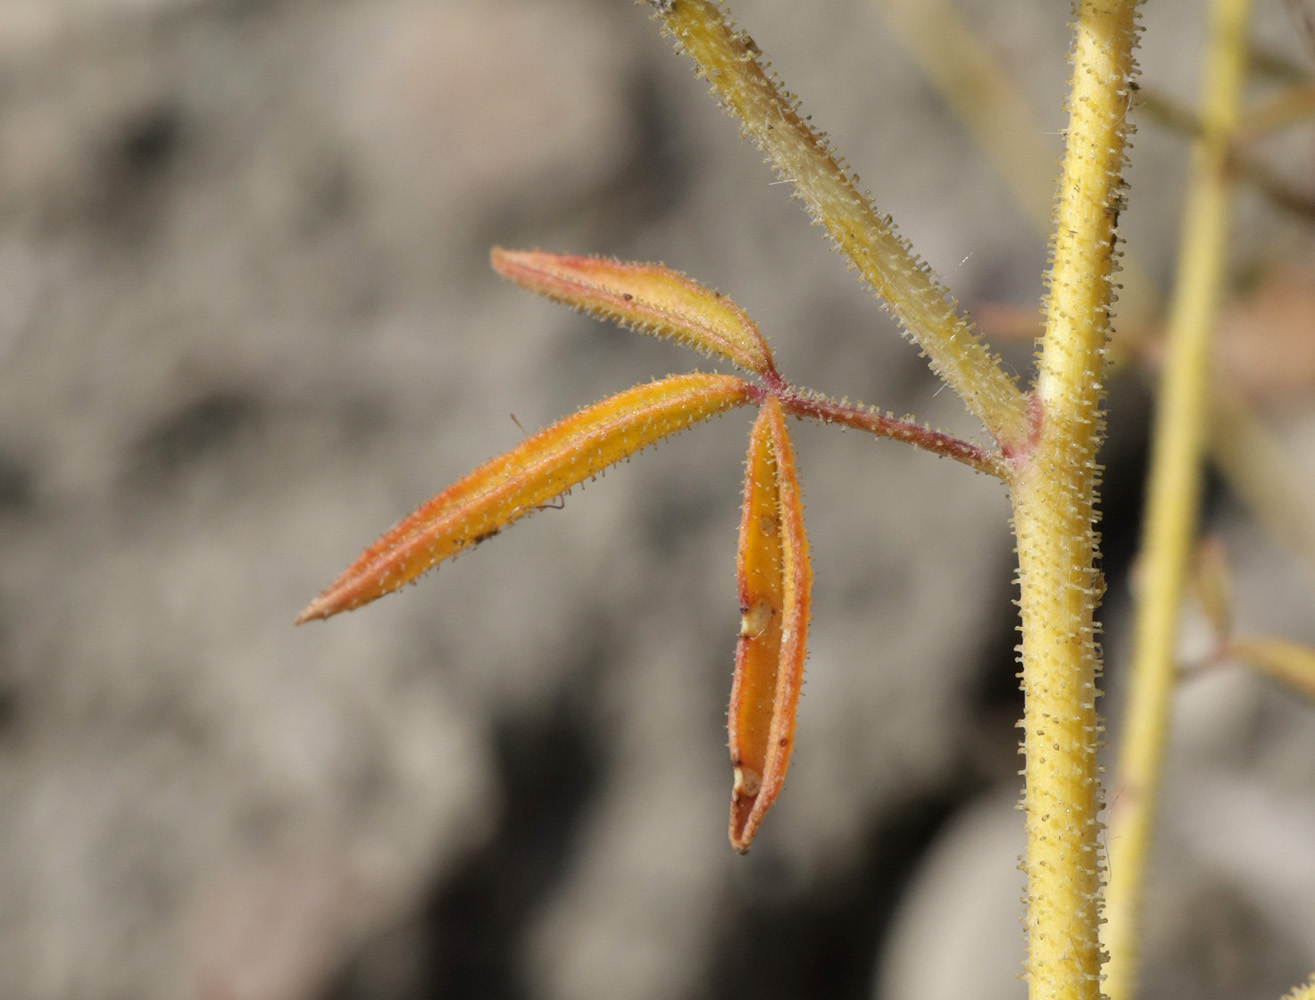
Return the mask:
[[932,370],[964,400],[1006,451],[1028,437],[1023,395],[970,329],[949,291],[878,213],[855,179],[759,62],[753,39],[738,33],[709,0],[652,0],[663,26],[698,64],[744,134],[880,296]]

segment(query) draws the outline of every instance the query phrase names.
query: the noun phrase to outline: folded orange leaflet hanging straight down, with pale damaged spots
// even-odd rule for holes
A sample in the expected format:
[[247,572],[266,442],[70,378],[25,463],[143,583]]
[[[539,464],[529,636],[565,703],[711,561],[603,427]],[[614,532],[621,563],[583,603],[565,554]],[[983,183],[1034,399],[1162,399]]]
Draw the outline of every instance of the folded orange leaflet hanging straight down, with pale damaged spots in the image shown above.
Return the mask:
[[775,396],[753,422],[746,466],[736,567],[740,634],[727,718],[735,768],[730,837],[742,854],[785,782],[809,628],[803,504]]

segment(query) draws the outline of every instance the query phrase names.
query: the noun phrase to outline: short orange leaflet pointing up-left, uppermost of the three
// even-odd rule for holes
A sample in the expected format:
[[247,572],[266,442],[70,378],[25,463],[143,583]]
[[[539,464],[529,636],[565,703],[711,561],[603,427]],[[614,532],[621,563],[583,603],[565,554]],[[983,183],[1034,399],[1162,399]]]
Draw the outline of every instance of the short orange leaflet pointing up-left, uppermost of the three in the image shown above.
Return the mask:
[[522,288],[775,376],[767,341],[730,299],[661,264],[493,247],[493,270]]

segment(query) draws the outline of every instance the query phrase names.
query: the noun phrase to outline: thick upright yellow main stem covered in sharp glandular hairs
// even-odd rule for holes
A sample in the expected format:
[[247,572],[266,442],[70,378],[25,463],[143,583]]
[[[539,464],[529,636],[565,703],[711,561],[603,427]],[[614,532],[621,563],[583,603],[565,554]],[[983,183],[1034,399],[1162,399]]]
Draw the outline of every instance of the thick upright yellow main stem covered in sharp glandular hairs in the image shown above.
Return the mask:
[[1102,366],[1122,200],[1134,0],[1077,8],[1068,146],[1056,204],[1040,428],[1014,480],[1027,787],[1027,979],[1032,997],[1095,1000],[1101,804],[1094,566]]

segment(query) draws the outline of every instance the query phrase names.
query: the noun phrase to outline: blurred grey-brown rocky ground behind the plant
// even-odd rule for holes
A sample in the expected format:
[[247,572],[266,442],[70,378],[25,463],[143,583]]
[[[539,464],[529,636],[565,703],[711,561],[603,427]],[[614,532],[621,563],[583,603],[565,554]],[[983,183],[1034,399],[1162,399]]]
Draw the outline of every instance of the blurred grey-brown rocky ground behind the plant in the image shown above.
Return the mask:
[[[1039,301],[1044,239],[877,4],[734,7],[965,304]],[[1198,7],[1145,12],[1143,82],[1181,100]],[[1057,158],[1066,5],[964,9]],[[1144,126],[1132,153],[1162,287],[1184,151]],[[500,283],[493,243],[665,261],[794,380],[972,434],[773,180],[623,0],[0,0],[0,1000],[1022,995],[998,483],[798,426],[811,653],[747,858],[747,414],[292,628],[510,414],[706,367]],[[1306,225],[1241,218],[1239,270],[1311,267]],[[1312,417],[1270,414],[1306,489]],[[1147,418],[1116,382],[1114,732]],[[1241,625],[1315,639],[1308,567],[1220,483],[1208,518]],[[1178,722],[1147,996],[1277,997],[1315,967],[1315,711],[1227,670]]]

